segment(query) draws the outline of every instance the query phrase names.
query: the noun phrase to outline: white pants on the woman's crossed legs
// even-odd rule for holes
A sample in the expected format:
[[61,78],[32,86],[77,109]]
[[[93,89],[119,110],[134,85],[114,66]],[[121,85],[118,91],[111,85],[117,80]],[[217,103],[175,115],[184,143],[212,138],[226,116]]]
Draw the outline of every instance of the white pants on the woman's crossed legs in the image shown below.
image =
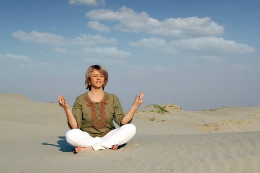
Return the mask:
[[92,146],[94,150],[102,150],[126,143],[135,135],[135,132],[136,128],[133,124],[126,124],[111,130],[103,137],[92,137],[86,131],[71,129],[66,132],[66,140],[74,147]]

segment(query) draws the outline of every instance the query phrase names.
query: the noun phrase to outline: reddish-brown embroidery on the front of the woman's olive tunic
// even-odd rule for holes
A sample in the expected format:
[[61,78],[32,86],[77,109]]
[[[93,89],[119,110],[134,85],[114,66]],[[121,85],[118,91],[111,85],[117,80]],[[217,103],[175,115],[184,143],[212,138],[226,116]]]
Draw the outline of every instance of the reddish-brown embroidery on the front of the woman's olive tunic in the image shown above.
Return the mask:
[[91,125],[95,128],[95,129],[103,129],[107,123],[108,123],[108,119],[106,117],[106,112],[105,112],[105,105],[107,105],[108,103],[106,102],[109,99],[108,95],[105,95],[104,100],[99,103],[100,104],[100,114],[101,117],[98,117],[97,114],[97,107],[96,104],[93,103],[87,96],[84,98],[84,101],[87,103],[87,106],[90,107],[91,109]]

